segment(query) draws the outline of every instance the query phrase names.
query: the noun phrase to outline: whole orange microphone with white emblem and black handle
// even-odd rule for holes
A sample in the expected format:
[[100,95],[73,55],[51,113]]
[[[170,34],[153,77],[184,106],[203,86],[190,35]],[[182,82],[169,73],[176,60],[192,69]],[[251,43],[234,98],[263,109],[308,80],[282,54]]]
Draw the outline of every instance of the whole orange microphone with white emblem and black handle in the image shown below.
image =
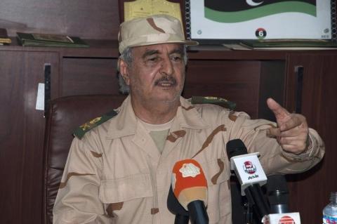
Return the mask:
[[178,202],[188,211],[191,223],[209,223],[206,212],[207,180],[197,161],[184,159],[176,162],[171,187]]

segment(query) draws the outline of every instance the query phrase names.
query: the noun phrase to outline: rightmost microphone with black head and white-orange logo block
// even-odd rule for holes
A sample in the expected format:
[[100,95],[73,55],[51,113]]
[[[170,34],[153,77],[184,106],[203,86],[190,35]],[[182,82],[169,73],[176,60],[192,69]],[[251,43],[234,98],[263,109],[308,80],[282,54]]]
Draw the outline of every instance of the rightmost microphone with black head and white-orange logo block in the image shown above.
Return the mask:
[[288,207],[289,190],[286,185],[286,178],[283,175],[268,176],[267,195],[270,204],[270,215],[266,216],[263,223],[279,224],[291,223],[300,224],[300,213],[290,213]]

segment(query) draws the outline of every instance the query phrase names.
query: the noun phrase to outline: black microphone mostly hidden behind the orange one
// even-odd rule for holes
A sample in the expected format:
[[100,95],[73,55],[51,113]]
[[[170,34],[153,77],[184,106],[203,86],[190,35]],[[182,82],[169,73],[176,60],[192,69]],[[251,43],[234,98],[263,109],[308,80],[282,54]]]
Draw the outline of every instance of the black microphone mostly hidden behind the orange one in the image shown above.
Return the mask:
[[172,185],[170,186],[169,196],[167,197],[167,208],[173,215],[176,215],[174,224],[188,224],[190,216],[183,206],[178,202],[178,199],[173,194]]

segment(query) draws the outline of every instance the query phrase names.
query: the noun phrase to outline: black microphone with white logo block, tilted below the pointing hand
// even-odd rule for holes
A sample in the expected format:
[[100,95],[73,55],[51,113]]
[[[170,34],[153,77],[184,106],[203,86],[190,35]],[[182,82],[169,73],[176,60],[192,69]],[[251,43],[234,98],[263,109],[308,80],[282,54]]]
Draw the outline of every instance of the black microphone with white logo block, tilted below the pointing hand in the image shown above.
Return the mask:
[[226,150],[230,169],[239,179],[241,195],[246,195],[258,220],[262,220],[270,209],[261,190],[261,186],[267,183],[267,176],[258,160],[259,152],[247,154],[246,146],[240,139],[228,141]]

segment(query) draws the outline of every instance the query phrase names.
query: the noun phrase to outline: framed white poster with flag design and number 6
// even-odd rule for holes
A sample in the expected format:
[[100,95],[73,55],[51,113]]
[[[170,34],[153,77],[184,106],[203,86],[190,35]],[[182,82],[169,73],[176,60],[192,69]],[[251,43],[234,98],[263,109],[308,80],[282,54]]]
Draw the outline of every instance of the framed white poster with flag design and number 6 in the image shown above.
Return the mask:
[[330,0],[190,0],[191,39],[331,39]]

